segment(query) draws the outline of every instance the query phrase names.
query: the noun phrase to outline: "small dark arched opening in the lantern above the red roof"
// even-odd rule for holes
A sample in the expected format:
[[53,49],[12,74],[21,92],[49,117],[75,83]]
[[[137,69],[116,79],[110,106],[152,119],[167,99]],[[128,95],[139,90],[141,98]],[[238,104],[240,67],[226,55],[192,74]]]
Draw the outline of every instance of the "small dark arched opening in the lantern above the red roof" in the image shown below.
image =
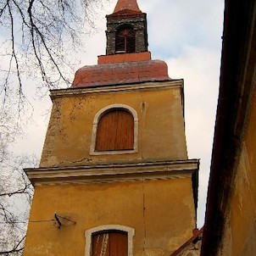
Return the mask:
[[115,53],[135,53],[135,31],[131,26],[122,26],[116,31]]

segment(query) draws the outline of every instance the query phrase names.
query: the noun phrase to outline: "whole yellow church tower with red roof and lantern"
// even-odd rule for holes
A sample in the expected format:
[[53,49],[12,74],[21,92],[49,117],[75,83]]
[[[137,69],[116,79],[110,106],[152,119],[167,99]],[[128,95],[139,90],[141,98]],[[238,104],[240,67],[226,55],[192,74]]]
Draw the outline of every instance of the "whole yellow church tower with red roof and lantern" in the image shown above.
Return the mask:
[[119,0],[106,55],[51,91],[25,256],[167,256],[196,228],[183,81],[147,50],[147,16]]

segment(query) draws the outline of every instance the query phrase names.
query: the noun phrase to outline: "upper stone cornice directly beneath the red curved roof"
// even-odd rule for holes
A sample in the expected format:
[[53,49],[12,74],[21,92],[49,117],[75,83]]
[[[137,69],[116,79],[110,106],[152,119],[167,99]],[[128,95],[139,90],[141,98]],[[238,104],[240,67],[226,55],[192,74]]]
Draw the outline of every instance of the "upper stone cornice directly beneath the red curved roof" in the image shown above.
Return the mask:
[[87,93],[113,93],[113,92],[136,92],[136,91],[151,91],[155,89],[166,89],[170,87],[181,87],[183,90],[183,80],[172,81],[153,81],[136,84],[113,85],[113,86],[97,86],[97,87],[81,87],[51,90],[51,97],[67,97],[74,95],[82,95]]

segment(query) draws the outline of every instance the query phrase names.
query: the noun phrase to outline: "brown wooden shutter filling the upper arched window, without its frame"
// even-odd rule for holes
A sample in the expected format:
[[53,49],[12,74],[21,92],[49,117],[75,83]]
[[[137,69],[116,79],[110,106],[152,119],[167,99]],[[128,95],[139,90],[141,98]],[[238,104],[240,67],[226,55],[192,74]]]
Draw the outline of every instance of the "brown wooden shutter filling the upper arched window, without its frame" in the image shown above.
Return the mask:
[[111,109],[97,123],[96,151],[132,150],[134,118],[126,109]]

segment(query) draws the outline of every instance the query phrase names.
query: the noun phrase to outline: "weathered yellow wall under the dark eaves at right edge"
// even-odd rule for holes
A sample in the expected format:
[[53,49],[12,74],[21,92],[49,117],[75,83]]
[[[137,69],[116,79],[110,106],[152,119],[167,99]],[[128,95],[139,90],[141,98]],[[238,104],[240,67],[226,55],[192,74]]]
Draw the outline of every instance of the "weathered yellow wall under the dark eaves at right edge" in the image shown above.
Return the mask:
[[256,253],[256,97],[237,166],[226,217],[225,239],[220,255],[253,256]]

